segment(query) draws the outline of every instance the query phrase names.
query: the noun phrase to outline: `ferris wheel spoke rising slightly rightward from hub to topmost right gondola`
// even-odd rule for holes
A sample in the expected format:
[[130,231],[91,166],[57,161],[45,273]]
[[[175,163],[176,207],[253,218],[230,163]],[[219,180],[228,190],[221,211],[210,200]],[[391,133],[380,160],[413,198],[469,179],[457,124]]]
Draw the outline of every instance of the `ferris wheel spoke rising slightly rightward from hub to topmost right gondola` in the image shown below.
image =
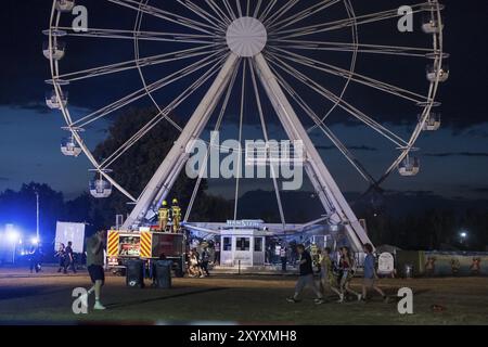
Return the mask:
[[[431,10],[428,10],[427,7],[432,7],[432,4],[426,2],[426,3],[412,4],[410,7],[412,8],[412,13],[414,14],[414,13],[419,13],[419,12],[431,11]],[[307,36],[307,35],[317,35],[320,33],[348,28],[351,26],[371,24],[371,23],[375,23],[375,22],[396,18],[401,15],[402,14],[398,14],[398,9],[393,9],[393,10],[375,12],[375,13],[364,14],[364,15],[355,16],[355,17],[348,17],[348,18],[322,23],[322,24],[310,25],[310,26],[300,27],[300,28],[278,30],[278,31],[273,33],[273,36],[279,36],[282,39],[288,39],[288,38],[301,37],[301,36]]]

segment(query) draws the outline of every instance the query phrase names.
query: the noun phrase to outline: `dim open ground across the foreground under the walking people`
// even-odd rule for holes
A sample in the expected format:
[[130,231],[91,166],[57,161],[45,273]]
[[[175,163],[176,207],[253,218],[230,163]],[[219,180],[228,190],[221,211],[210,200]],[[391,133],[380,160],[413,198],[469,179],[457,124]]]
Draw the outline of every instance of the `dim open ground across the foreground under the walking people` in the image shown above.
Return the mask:
[[[378,296],[367,304],[336,304],[331,296],[316,306],[312,294],[306,292],[301,303],[288,304],[285,298],[294,283],[294,277],[216,275],[175,279],[172,290],[138,290],[126,287],[124,278],[108,277],[103,292],[108,309],[76,316],[72,291],[89,284],[86,273],[37,275],[0,270],[0,324],[488,324],[488,278],[382,280],[381,286],[391,297],[400,287],[413,290],[414,313],[407,316],[398,313],[395,298],[384,304]],[[359,284],[355,280],[354,287],[359,290]],[[433,305],[445,310],[435,312]]]

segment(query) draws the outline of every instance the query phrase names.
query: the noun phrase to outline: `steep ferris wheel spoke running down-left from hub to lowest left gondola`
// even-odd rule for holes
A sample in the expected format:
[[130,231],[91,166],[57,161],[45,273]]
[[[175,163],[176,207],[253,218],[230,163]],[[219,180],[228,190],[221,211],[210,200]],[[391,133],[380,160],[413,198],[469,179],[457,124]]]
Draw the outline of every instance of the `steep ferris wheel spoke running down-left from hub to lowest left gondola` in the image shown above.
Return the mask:
[[200,78],[197,78],[190,87],[188,87],[180,95],[171,101],[164,110],[159,111],[144,127],[136,132],[129,140],[127,140],[119,149],[111,154],[103,163],[102,167],[105,169],[112,166],[121,155],[124,155],[130,147],[132,147],[140,139],[147,134],[157,124],[163,119],[168,120],[178,131],[183,129],[177,125],[170,117],[170,113],[174,112],[181,103],[190,98],[196,90],[198,90],[221,67],[224,57],[219,57],[214,65],[205,72]]

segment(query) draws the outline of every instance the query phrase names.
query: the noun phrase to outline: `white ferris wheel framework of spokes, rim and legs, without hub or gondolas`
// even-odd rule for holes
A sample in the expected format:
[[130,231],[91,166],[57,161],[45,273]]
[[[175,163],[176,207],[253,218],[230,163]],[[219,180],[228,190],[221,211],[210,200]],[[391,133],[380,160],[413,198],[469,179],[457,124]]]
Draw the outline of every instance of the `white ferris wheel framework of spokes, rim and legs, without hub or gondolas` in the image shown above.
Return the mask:
[[[305,168],[306,172],[318,194],[324,209],[326,213],[326,219],[334,223],[341,223],[345,226],[348,236],[350,237],[351,244],[355,249],[361,249],[362,245],[365,243],[371,243],[365,233],[363,227],[359,222],[358,218],[354,214],[347,201],[344,198],[338,185],[334,181],[332,175],[329,172],[328,167],[322,160],[320,154],[318,153],[313,142],[310,140],[309,131],[319,128],[329,139],[333,141],[333,143],[339,149],[339,151],[348,158],[348,160],[355,166],[355,168],[359,171],[359,174],[370,181],[372,184],[381,184],[399,165],[400,163],[407,158],[411,151],[414,150],[414,144],[419,139],[422,130],[427,123],[431,112],[433,107],[438,105],[436,102],[436,95],[438,92],[438,87],[440,83],[440,73],[442,68],[442,61],[447,56],[444,53],[444,36],[442,36],[442,17],[441,10],[442,5],[439,4],[437,0],[427,0],[424,3],[415,4],[412,8],[414,12],[428,12],[433,16],[433,20],[437,21],[440,30],[438,33],[433,33],[433,48],[432,49],[416,49],[416,48],[406,48],[406,47],[391,47],[391,46],[374,46],[374,44],[360,44],[358,40],[358,26],[360,24],[373,23],[376,21],[383,21],[386,18],[394,18],[399,16],[399,14],[395,11],[384,11],[378,13],[371,13],[368,15],[356,16],[354,12],[354,8],[351,5],[351,0],[324,0],[316,3],[311,8],[308,9],[308,12],[303,11],[295,15],[291,15],[287,18],[282,18],[282,15],[287,13],[294,4],[297,3],[297,0],[287,0],[286,3],[283,4],[281,9],[275,9],[273,14],[270,14],[273,10],[273,7],[277,4],[277,0],[272,0],[268,3],[268,5],[262,5],[261,0],[258,0],[258,4],[254,11],[254,14],[251,13],[249,1],[247,1],[247,11],[246,9],[241,8],[241,3],[236,1],[237,12],[235,12],[232,5],[229,3],[229,0],[222,0],[220,9],[216,3],[216,0],[206,0],[206,3],[214,13],[209,11],[205,11],[197,4],[192,1],[182,1],[176,0],[180,4],[184,5],[187,9],[191,10],[194,14],[198,16],[198,18],[204,22],[198,22],[195,20],[190,20],[183,17],[179,14],[169,13],[165,10],[154,8],[149,5],[149,0],[106,0],[107,2],[118,4],[121,7],[126,7],[128,9],[132,9],[137,11],[137,20],[134,24],[133,30],[113,30],[113,29],[90,29],[87,34],[67,34],[70,36],[88,36],[88,37],[102,37],[102,38],[118,38],[118,39],[133,39],[134,42],[134,60],[131,62],[124,62],[118,64],[106,65],[93,69],[87,69],[84,72],[77,72],[72,74],[61,74],[60,73],[60,64],[59,61],[55,60],[51,53],[50,56],[50,67],[52,79],[50,80],[53,85],[55,95],[57,100],[62,100],[63,90],[62,86],[69,81],[76,81],[78,79],[89,78],[92,76],[100,76],[104,74],[111,74],[114,72],[123,72],[130,68],[137,68],[139,70],[143,88],[139,91],[128,95],[127,98],[119,100],[106,107],[94,112],[84,118],[78,120],[74,120],[69,113],[67,105],[60,103],[60,110],[63,114],[63,117],[66,121],[67,129],[72,132],[73,138],[77,141],[82,152],[87,155],[88,159],[92,164],[95,171],[98,171],[101,177],[106,179],[114,188],[120,191],[127,198],[129,198],[132,203],[134,203],[134,208],[132,213],[127,218],[123,228],[130,230],[138,224],[142,223],[146,220],[147,217],[154,215],[154,210],[157,209],[160,202],[167,197],[167,194],[170,192],[176,179],[184,167],[189,154],[185,153],[187,144],[194,139],[198,139],[205,126],[207,125],[209,117],[215,112],[217,104],[226,95],[227,90],[227,101],[230,93],[230,90],[235,82],[235,76],[241,65],[241,61],[244,62],[244,72],[245,65],[249,66],[251,76],[253,77],[253,83],[255,87],[256,98],[258,101],[258,108],[260,108],[259,102],[259,93],[257,92],[257,83],[256,80],[261,82],[262,88],[266,91],[268,99],[270,100],[273,108],[279,116],[279,119],[290,138],[290,140],[300,140],[304,142],[304,153],[305,153]],[[308,15],[317,13],[321,9],[333,5],[335,3],[343,2],[345,4],[346,11],[348,13],[348,18],[343,21],[336,21],[332,23],[326,23],[325,25],[312,25],[309,27],[304,27],[300,29],[285,29],[290,27],[292,24],[303,21]],[[243,1],[246,3],[246,1]],[[50,28],[49,28],[49,49],[52,52],[55,40],[57,40],[57,33],[60,31],[68,31],[70,28],[61,27],[60,21],[62,13],[57,11],[56,0],[53,0],[53,7],[51,12],[50,20]],[[262,11],[259,15],[259,11]],[[246,12],[246,13],[245,13]],[[150,31],[141,31],[141,23],[143,15],[151,15],[155,17],[163,18],[165,21],[169,21],[171,23],[176,23],[185,27],[190,27],[195,29],[198,34],[195,35],[187,35],[187,34],[171,34],[171,33],[150,33]],[[219,44],[211,41],[211,38],[215,38],[217,35],[226,35],[226,30],[229,26],[234,23],[237,18],[242,18],[245,16],[252,16],[259,20],[260,23],[264,23],[268,28],[275,28],[280,26],[280,30],[282,35],[285,35],[284,38],[269,38],[269,42],[281,41],[281,43],[288,44],[286,46],[277,46],[271,47],[266,52],[257,52],[249,56],[237,56],[234,52],[229,50],[229,47],[226,49],[218,49]],[[352,33],[352,43],[339,43],[339,42],[318,42],[318,41],[307,41],[301,40],[304,36],[306,37],[313,30],[314,33],[326,31],[332,29],[337,29],[341,27],[350,27]],[[280,33],[280,31],[279,31]],[[170,62],[177,60],[179,55],[187,54],[188,56],[198,56],[204,55],[202,48],[195,49],[187,49],[180,52],[171,52],[167,54],[160,54],[157,56],[151,57],[140,57],[139,42],[140,40],[157,40],[157,41],[188,41],[188,42],[196,42],[201,44],[206,44],[204,49],[209,49],[211,54],[207,54],[206,57],[203,57],[200,62],[200,66],[196,64],[190,65],[187,69],[180,72],[180,75],[172,74],[170,76],[166,76],[164,79],[158,80],[157,82],[147,85],[147,81],[144,77],[142,67],[149,66],[151,64],[158,64],[162,62]],[[304,46],[300,46],[300,42]],[[295,53],[293,51],[286,50],[286,48],[296,48],[300,47],[301,49],[314,49],[314,50],[336,50],[336,51],[347,51],[351,52],[351,63],[350,68],[342,69],[333,65],[329,65],[305,55]],[[382,81],[375,80],[368,76],[360,75],[355,72],[356,59],[359,52],[370,52],[377,54],[400,54],[400,55],[412,55],[412,56],[424,56],[429,57],[434,62],[434,66],[436,68],[436,78],[435,80],[431,80],[428,93],[426,97],[420,95],[408,90],[384,83]],[[345,78],[346,83],[342,90],[342,93],[334,94],[330,92],[328,89],[319,86],[313,80],[310,80],[304,74],[300,74],[299,70],[295,69],[291,63],[301,64],[303,66],[308,66],[312,68],[320,69],[324,73],[332,74],[335,76],[339,76]],[[156,102],[153,97],[153,91],[158,90],[175,80],[181,79],[195,69],[208,66],[208,70],[198,80],[196,80],[189,89],[183,92],[182,97],[175,100],[168,107],[162,108],[160,105]],[[210,67],[211,66],[211,67]],[[217,68],[214,68],[217,67]],[[294,75],[295,78],[300,78],[304,82],[308,82],[310,88],[312,88],[316,92],[323,95],[325,99],[333,103],[333,107],[325,113],[324,116],[318,116],[310,107],[308,107],[305,102],[300,99],[299,95],[294,93],[293,87],[283,78],[283,75],[280,74],[286,73],[290,75]],[[218,73],[218,74],[217,74]],[[171,110],[177,107],[181,102],[183,102],[192,91],[200,88],[205,81],[208,81],[209,78],[217,74],[215,77],[211,87],[208,89],[207,93],[203,98],[200,105],[195,108],[193,116],[187,123],[185,127],[180,127],[169,117]],[[257,78],[256,78],[257,77]],[[388,92],[391,94],[399,95],[400,98],[416,102],[420,106],[423,107],[423,112],[421,114],[420,120],[415,130],[411,134],[409,140],[402,140],[400,137],[396,136],[394,132],[389,131],[381,124],[376,123],[374,119],[368,117],[361,111],[357,110],[355,106],[347,103],[344,100],[345,91],[347,90],[349,83],[351,81],[362,83],[364,86],[369,86],[372,88],[376,88],[384,92]],[[243,87],[244,88],[244,87]],[[295,113],[294,107],[290,103],[288,97],[286,97],[285,92],[288,93],[290,98],[292,98],[303,110],[304,112],[311,117],[314,121],[314,126],[310,129],[304,128],[301,121]],[[243,92],[244,95],[244,92]],[[295,95],[295,97],[294,97]],[[114,110],[118,110],[127,104],[130,104],[134,100],[139,100],[140,98],[149,97],[156,108],[158,110],[157,116],[154,118],[155,121],[146,125],[145,128],[141,129],[140,132],[134,134],[129,141],[125,144],[124,149],[119,149],[118,152],[114,153],[110,158],[104,159],[104,162],[99,163],[97,158],[92,155],[85,141],[80,136],[79,129],[82,128],[84,125],[89,124],[90,121],[94,121],[105,116],[106,114],[113,112]],[[400,150],[400,155],[398,158],[388,167],[383,177],[380,180],[374,180],[365,169],[355,160],[354,156],[348,152],[347,147],[341,143],[341,141],[332,133],[332,131],[324,125],[324,120],[329,117],[329,115],[336,107],[343,108],[345,112],[355,116],[359,120],[363,121],[369,127],[376,130],[378,133],[389,139],[391,142],[397,144]],[[265,123],[262,121],[262,110],[260,111],[261,124],[265,127]],[[222,112],[221,112],[222,113]],[[222,116],[223,114],[221,114]],[[160,164],[158,170],[154,174],[153,178],[143,190],[142,194],[138,197],[132,196],[129,192],[127,192],[115,179],[112,178],[110,171],[107,170],[108,166],[114,163],[120,155],[123,155],[131,145],[137,143],[137,141],[142,138],[147,131],[150,131],[158,121],[162,119],[166,119],[169,121],[175,128],[181,131],[181,134],[174,147],[170,150],[166,158]],[[221,119],[221,117],[220,117]],[[85,123],[84,123],[85,121]],[[265,131],[265,136],[266,131]],[[198,180],[200,184],[200,180]],[[239,180],[236,183],[236,193],[239,192]],[[282,218],[283,229],[286,229],[286,221],[283,216],[280,193],[278,192],[277,184],[274,182],[274,187],[277,190],[277,198],[280,207],[280,215]],[[195,194],[194,194],[195,195]],[[194,198],[195,196],[193,196]],[[192,204],[193,204],[192,198]],[[236,198],[237,201],[237,198]],[[236,210],[235,203],[235,210]],[[236,213],[235,213],[236,215]],[[188,218],[188,216],[187,216]],[[235,217],[236,218],[236,217]]]

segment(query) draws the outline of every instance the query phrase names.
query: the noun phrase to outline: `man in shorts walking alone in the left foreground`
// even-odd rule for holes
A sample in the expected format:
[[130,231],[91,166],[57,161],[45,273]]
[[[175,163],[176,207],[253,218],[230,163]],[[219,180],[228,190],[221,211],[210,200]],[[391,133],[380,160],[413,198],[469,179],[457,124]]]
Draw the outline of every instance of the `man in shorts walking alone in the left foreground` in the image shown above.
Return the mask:
[[[104,310],[105,307],[100,301],[100,296],[102,292],[102,286],[105,283],[105,270],[104,265],[104,243],[106,239],[106,231],[98,231],[94,235],[87,239],[87,268],[90,274],[91,282],[93,286],[88,290],[88,296],[94,292],[95,304],[93,309]],[[87,298],[88,299],[88,298]]]

